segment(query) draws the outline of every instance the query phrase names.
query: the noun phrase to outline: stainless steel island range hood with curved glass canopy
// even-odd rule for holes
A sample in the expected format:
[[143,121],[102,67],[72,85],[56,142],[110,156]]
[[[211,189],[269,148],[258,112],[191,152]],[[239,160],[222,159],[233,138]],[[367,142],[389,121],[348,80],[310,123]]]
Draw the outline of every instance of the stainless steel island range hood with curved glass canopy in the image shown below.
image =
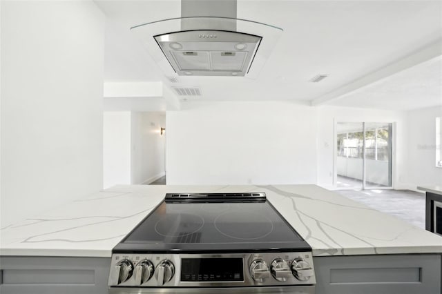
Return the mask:
[[236,0],[182,0],[182,17],[131,30],[166,75],[257,77],[282,29],[236,18]]

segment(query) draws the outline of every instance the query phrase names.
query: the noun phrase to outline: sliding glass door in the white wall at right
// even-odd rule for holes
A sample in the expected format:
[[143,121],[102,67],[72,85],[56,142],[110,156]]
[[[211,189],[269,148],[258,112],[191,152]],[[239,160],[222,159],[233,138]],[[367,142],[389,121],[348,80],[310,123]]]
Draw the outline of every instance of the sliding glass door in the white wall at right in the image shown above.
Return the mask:
[[392,186],[392,124],[338,122],[336,125],[336,186]]

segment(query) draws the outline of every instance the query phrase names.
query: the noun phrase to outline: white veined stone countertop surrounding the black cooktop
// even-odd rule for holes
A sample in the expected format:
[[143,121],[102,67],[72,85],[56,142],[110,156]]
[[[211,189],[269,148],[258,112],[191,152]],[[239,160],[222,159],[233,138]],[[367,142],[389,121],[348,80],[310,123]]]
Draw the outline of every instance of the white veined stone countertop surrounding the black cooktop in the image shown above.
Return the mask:
[[166,193],[221,192],[265,192],[315,256],[442,253],[442,237],[315,185],[127,185],[1,228],[0,255],[111,257]]

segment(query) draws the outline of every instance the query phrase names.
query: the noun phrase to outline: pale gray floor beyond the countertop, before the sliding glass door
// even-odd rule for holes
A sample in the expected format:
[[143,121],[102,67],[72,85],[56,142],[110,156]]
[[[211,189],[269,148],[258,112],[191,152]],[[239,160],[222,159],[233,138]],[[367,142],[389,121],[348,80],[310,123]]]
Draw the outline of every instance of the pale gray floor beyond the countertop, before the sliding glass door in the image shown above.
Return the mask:
[[425,229],[425,194],[410,190],[335,190],[383,213]]

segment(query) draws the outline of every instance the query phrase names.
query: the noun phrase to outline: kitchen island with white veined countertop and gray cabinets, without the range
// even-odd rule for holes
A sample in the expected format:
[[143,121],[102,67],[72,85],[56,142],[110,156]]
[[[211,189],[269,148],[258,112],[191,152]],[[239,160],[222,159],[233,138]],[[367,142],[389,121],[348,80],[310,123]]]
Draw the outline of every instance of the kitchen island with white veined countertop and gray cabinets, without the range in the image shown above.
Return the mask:
[[316,293],[441,293],[442,237],[314,185],[114,186],[2,228],[1,293],[107,293],[112,248],[166,193],[241,192],[309,243]]

